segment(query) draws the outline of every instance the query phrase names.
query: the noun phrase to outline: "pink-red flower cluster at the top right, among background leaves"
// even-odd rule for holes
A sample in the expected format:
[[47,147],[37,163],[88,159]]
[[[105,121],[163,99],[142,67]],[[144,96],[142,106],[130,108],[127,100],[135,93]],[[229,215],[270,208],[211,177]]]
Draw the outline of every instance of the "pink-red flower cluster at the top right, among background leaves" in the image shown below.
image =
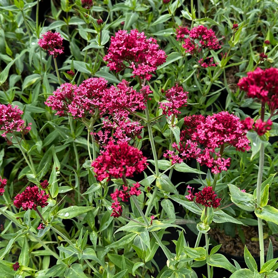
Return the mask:
[[[185,35],[188,36],[185,38]],[[176,37],[177,40],[183,39],[182,47],[185,52],[191,55],[200,53],[202,49],[216,50],[221,48],[214,31],[203,25],[193,27],[190,31],[187,28],[179,27],[176,30]]]

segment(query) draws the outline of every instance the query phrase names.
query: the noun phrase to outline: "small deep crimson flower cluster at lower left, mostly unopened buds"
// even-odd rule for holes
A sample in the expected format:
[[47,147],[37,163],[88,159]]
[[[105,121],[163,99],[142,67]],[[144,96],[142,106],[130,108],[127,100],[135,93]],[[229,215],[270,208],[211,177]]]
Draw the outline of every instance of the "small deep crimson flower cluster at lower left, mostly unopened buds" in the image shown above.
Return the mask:
[[48,194],[44,194],[45,191],[39,191],[39,188],[35,185],[33,187],[27,186],[26,189],[15,196],[14,205],[20,209],[28,210],[28,209],[36,209],[38,206],[41,208],[48,205],[47,199],[49,197]]

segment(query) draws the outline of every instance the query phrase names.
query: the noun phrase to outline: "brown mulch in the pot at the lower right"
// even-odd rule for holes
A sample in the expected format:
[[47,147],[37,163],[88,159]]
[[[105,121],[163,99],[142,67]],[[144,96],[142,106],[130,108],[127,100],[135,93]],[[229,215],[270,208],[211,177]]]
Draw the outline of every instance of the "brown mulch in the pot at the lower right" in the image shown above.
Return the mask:
[[[250,253],[254,257],[259,257],[259,238],[258,238],[258,230],[257,227],[246,227],[242,228],[244,237],[245,237],[245,244],[250,251]],[[226,235],[223,230],[219,230],[218,228],[211,229],[209,231],[210,236],[218,242],[218,244],[222,243],[220,251],[223,253],[227,253],[234,256],[243,257],[244,255],[244,244],[239,237],[238,231],[236,231],[236,235],[232,238],[229,235]],[[276,238],[271,235],[268,236],[267,239],[264,239],[264,253],[267,254],[268,251],[268,244],[269,239],[272,241],[273,245],[273,252],[278,251],[278,241]]]

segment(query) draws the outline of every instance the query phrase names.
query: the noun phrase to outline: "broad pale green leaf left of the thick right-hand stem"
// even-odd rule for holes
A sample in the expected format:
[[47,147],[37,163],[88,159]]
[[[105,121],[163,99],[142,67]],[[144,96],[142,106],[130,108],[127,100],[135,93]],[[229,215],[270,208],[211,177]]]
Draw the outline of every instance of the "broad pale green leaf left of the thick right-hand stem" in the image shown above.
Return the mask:
[[231,201],[239,208],[246,211],[254,211],[256,200],[252,194],[242,192],[237,186],[228,184],[230,189]]

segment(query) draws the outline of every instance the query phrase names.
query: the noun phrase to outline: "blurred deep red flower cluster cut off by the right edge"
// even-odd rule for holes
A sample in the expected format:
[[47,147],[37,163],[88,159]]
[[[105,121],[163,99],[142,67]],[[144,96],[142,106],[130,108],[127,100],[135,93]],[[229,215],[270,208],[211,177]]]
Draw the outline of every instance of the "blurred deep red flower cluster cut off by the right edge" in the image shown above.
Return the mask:
[[239,80],[238,86],[248,98],[258,98],[267,103],[271,113],[278,109],[278,68],[256,68]]

